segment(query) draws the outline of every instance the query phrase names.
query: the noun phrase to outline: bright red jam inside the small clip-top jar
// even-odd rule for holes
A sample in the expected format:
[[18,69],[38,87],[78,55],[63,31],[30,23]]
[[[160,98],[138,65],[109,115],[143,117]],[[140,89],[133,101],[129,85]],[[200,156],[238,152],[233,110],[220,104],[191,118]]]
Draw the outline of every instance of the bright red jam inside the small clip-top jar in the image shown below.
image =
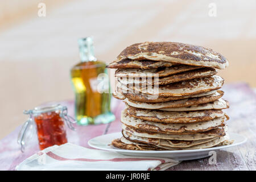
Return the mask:
[[35,115],[40,150],[44,148],[67,143],[64,119],[60,111],[49,111]]

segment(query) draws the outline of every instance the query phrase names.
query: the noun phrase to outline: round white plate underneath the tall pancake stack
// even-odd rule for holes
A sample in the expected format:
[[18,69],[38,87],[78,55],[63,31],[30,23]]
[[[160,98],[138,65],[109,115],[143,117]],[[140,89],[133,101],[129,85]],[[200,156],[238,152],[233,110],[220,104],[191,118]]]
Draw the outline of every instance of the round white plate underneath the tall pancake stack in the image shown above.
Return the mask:
[[234,147],[238,144],[242,144],[246,142],[246,138],[242,135],[229,133],[230,140],[234,140],[233,144],[227,146],[218,146],[212,148],[203,148],[203,149],[194,149],[194,150],[168,150],[168,151],[139,151],[139,150],[123,150],[121,148],[115,148],[113,146],[109,146],[113,139],[120,138],[122,136],[121,133],[112,133],[101,135],[99,137],[95,137],[88,141],[90,147],[118,152],[119,154],[129,155],[129,156],[151,156],[151,157],[159,157],[159,158],[172,158],[175,160],[192,160],[192,159],[201,159],[209,156],[209,151],[216,151],[228,147]]

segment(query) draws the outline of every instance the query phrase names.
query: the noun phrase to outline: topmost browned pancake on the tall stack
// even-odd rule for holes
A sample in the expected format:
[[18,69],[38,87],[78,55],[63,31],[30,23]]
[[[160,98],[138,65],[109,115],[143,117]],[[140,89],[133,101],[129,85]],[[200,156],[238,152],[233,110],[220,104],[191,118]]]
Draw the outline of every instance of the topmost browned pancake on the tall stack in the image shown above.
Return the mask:
[[224,69],[228,60],[209,48],[177,42],[144,42],[125,48],[115,62],[123,59],[167,61],[203,67]]

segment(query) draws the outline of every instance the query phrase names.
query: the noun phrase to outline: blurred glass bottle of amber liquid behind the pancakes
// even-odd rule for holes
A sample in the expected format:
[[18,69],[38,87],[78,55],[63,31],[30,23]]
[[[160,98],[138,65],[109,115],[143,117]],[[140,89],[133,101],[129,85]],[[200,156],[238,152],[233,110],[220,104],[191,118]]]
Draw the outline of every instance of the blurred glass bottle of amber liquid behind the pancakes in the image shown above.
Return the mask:
[[78,43],[81,61],[71,69],[77,124],[112,122],[115,117],[110,111],[111,94],[106,64],[94,57],[91,37],[81,38]]

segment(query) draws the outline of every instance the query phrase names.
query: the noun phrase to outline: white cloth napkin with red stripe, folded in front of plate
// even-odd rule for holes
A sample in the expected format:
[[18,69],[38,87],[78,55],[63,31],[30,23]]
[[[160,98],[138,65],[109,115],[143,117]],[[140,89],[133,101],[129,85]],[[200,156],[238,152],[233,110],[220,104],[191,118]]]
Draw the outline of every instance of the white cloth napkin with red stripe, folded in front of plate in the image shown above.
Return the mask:
[[165,170],[180,162],[167,158],[125,156],[72,143],[48,147],[24,160],[16,170]]

